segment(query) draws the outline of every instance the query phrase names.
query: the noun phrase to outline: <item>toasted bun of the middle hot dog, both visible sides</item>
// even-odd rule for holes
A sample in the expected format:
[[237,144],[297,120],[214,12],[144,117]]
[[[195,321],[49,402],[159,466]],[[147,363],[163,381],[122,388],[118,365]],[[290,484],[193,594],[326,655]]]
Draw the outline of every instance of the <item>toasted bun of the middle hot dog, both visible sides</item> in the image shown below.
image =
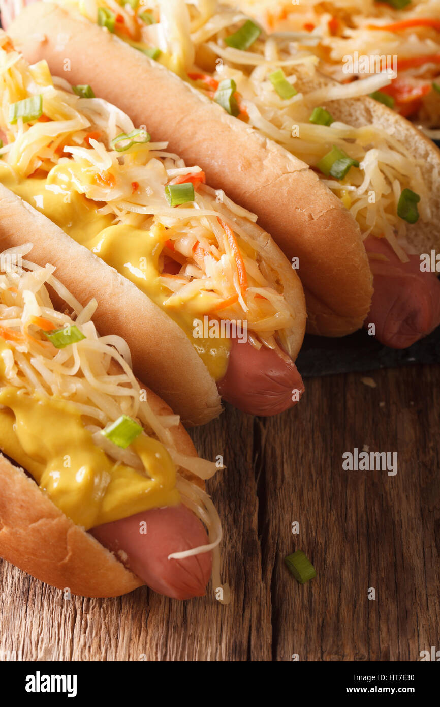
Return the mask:
[[[223,210],[222,205],[219,210]],[[95,297],[97,328],[102,334],[118,332],[124,337],[131,349],[135,373],[172,406],[184,423],[203,424],[220,414],[215,380],[183,330],[150,298],[1,184],[0,214],[0,247],[6,249],[32,240],[34,262],[43,267],[47,262],[54,264],[60,279],[81,303]],[[246,229],[246,219],[236,220]],[[277,269],[285,296],[297,312],[295,327],[287,332],[290,355],[295,359],[306,320],[301,282],[265,231],[252,224],[252,235]]]

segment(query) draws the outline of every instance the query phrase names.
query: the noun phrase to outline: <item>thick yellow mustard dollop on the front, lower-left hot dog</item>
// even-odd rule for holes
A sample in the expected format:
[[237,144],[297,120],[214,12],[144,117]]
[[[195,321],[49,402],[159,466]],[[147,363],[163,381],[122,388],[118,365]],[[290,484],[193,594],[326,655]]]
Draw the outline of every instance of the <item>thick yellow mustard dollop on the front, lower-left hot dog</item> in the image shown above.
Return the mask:
[[88,530],[179,503],[174,463],[157,440],[142,434],[131,444],[147,476],[97,447],[73,402],[0,387],[0,405],[1,450],[32,474],[76,525]]

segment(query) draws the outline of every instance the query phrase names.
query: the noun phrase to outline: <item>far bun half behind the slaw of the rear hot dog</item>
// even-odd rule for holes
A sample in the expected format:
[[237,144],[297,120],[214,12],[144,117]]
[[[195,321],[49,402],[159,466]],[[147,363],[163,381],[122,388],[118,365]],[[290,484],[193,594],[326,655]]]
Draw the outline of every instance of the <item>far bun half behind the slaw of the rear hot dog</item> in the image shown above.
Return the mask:
[[[315,72],[311,78],[306,70],[297,69],[299,90],[312,90],[323,86],[337,86],[333,78]],[[329,100],[326,108],[335,120],[353,127],[374,124],[400,141],[415,160],[421,160],[422,175],[427,185],[430,216],[427,221],[420,218],[417,223],[407,225],[407,240],[415,252],[430,252],[440,247],[440,150],[409,120],[383,103],[369,96]]]

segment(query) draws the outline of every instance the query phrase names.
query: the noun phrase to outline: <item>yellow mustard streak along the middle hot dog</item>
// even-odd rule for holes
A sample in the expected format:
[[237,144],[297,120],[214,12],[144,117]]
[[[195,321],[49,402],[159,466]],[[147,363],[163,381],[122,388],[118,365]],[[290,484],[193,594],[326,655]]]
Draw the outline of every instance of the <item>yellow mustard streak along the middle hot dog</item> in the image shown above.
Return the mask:
[[[114,218],[110,214],[98,214],[95,203],[84,194],[78,194],[72,187],[74,167],[78,168],[78,165],[61,163],[51,170],[47,179],[21,178],[0,162],[0,181],[57,223],[77,243],[92,250],[108,265],[117,269],[167,312],[189,337],[210,375],[220,380],[226,373],[230,340],[222,336],[194,337],[193,334],[194,318],[203,318],[212,305],[209,293],[198,293],[184,302],[179,302],[179,298],[175,297],[172,305],[165,304],[170,291],[158,280],[160,273],[157,262],[166,240],[166,231],[157,226],[151,230],[123,224],[112,226]],[[46,185],[58,191],[46,189]]]

